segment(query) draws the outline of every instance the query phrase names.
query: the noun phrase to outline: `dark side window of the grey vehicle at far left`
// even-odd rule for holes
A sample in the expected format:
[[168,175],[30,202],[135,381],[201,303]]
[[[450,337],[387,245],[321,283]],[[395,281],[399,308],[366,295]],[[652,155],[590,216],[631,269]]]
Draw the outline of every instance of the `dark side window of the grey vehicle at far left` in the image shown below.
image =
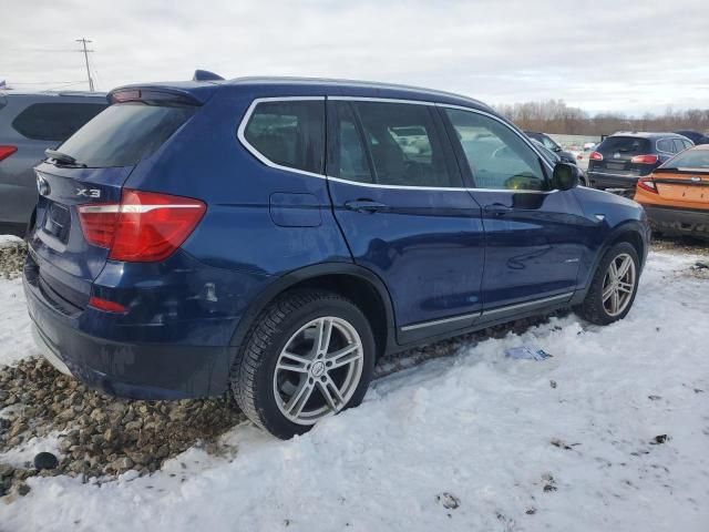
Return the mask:
[[12,121],[12,127],[33,141],[65,141],[93,119],[106,104],[33,103]]

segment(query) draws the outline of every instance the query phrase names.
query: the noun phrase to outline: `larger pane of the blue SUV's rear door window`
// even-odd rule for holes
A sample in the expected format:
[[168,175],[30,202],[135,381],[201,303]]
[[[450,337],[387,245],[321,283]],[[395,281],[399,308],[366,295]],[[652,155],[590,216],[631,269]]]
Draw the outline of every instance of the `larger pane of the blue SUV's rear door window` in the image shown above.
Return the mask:
[[462,185],[451,168],[450,147],[446,150],[430,105],[361,101],[352,102],[352,109],[359,115],[376,183],[444,188]]

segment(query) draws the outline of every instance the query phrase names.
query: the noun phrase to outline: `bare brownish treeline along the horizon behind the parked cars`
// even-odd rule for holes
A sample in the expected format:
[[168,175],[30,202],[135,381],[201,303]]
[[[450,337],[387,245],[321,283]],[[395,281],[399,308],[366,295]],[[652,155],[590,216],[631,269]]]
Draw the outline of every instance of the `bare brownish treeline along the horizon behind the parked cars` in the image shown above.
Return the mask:
[[608,135],[616,131],[709,131],[709,109],[674,111],[668,108],[661,115],[646,113],[641,117],[623,113],[592,116],[582,109],[566,105],[563,100],[497,105],[495,109],[523,130],[544,133]]

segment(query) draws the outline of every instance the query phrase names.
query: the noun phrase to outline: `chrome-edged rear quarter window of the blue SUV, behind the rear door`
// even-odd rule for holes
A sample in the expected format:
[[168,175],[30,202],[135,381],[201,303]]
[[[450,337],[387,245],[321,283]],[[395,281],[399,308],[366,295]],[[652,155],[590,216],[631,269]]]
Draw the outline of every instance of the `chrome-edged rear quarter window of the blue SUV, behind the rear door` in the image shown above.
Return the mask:
[[244,129],[244,137],[271,163],[321,174],[325,160],[325,101],[258,103]]

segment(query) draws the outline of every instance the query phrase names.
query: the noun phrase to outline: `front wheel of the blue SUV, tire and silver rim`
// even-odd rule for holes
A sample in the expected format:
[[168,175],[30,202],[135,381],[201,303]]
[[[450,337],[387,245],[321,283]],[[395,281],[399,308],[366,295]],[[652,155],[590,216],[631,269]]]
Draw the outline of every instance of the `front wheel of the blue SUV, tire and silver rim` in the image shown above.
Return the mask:
[[635,301],[639,276],[640,260],[635,247],[627,242],[614,245],[598,264],[576,313],[597,325],[625,318]]

